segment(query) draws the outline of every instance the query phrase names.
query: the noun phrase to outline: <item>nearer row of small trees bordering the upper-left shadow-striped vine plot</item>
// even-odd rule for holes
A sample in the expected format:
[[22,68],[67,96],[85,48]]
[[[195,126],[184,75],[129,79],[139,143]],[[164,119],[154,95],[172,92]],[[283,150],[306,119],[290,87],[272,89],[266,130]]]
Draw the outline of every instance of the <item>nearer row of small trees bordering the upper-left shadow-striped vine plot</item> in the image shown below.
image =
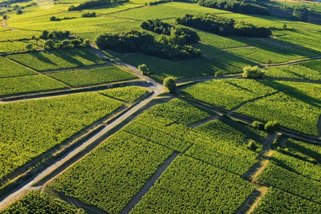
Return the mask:
[[74,39],[64,39],[62,41],[54,41],[52,39],[48,39],[43,45],[43,49],[45,50],[53,50],[53,49],[65,49],[65,48],[74,48],[74,47],[89,47],[89,40],[82,38],[74,38]]

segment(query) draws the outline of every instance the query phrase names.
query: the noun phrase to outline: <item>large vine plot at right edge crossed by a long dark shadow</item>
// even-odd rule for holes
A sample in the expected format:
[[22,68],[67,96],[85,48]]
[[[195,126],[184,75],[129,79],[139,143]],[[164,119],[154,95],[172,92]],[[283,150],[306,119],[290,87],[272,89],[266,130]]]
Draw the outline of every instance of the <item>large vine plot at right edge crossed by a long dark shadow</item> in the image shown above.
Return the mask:
[[321,86],[313,83],[262,81],[277,94],[247,103],[237,113],[264,121],[278,120],[284,127],[318,136],[317,123],[321,114]]

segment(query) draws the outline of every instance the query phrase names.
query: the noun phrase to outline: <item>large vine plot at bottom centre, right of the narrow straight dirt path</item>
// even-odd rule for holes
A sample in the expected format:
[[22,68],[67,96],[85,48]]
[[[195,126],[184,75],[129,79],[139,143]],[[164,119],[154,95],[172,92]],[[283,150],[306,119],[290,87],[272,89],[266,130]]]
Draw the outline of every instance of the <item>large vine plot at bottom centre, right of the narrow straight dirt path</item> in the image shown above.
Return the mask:
[[233,214],[253,190],[239,176],[183,155],[130,214]]

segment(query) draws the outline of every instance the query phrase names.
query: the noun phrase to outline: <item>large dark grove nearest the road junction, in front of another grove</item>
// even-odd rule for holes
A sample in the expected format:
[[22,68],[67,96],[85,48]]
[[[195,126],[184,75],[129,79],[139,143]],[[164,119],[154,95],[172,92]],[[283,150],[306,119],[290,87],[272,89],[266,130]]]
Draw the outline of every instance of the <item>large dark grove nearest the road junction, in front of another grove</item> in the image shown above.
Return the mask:
[[161,43],[147,32],[136,30],[101,35],[96,39],[96,44],[100,49],[121,53],[140,52],[171,60],[195,58],[201,54],[199,49],[192,46]]

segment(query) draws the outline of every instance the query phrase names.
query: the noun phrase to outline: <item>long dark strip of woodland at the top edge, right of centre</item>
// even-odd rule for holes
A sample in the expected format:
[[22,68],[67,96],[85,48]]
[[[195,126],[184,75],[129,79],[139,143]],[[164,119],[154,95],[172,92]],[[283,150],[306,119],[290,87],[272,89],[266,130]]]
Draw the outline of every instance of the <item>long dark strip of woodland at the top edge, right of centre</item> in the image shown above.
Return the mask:
[[247,3],[245,1],[237,0],[200,0],[198,4],[204,7],[216,8],[220,10],[227,10],[237,13],[258,14],[270,16],[270,11],[263,6]]

